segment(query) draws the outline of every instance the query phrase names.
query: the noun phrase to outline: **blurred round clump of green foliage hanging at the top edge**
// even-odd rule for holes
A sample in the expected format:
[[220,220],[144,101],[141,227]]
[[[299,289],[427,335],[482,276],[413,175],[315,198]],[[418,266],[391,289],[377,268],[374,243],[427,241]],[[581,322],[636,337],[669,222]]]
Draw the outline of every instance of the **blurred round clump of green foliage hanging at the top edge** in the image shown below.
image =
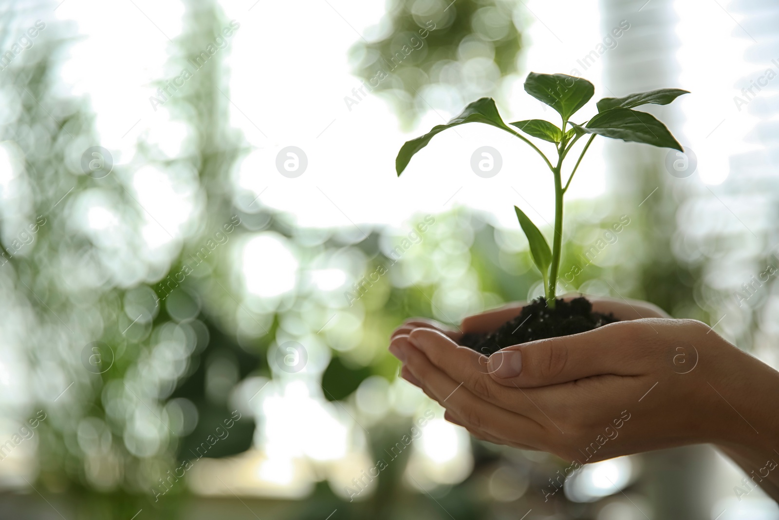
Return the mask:
[[347,105],[379,92],[411,127],[431,103],[457,112],[497,94],[502,76],[517,70],[519,19],[507,0],[388,0],[386,15],[366,32],[369,40],[351,49],[366,90]]

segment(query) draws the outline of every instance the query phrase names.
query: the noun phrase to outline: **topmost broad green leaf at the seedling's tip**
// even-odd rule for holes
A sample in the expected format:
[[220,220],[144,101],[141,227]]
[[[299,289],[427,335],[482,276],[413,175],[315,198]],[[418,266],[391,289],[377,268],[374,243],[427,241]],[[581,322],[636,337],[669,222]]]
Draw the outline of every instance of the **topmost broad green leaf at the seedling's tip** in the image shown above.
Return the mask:
[[548,104],[568,121],[595,94],[592,83],[567,74],[530,73],[525,80],[525,92]]

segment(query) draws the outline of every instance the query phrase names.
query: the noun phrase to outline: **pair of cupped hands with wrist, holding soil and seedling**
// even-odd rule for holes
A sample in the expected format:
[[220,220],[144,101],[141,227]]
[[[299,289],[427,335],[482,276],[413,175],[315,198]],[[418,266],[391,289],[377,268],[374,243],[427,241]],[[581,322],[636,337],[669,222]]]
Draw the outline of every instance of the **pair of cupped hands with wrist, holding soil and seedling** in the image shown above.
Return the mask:
[[476,437],[580,464],[710,442],[777,493],[779,469],[767,468],[779,462],[779,373],[699,321],[664,318],[643,302],[593,303],[625,321],[489,358],[453,341],[520,312],[507,306],[467,318],[461,331],[408,322],[390,351],[403,377]]

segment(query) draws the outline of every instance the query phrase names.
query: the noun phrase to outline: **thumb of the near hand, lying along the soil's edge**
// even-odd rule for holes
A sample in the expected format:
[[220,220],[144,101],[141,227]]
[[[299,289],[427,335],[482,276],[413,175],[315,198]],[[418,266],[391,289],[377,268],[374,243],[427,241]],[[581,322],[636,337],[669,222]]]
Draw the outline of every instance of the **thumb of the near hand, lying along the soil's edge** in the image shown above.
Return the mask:
[[638,376],[650,368],[651,343],[640,341],[638,349],[634,339],[653,338],[653,321],[623,321],[503,348],[490,356],[489,375],[509,387],[541,387],[605,374]]

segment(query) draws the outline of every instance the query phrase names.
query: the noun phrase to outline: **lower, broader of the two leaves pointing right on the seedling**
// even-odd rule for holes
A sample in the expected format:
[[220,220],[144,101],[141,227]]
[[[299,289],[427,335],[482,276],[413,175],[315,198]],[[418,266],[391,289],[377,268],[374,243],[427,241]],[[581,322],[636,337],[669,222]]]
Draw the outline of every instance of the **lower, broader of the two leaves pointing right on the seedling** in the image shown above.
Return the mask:
[[599,136],[651,144],[654,147],[673,148],[683,152],[665,125],[654,115],[629,108],[611,108],[590,119],[585,126],[574,125],[577,131],[597,133]]

